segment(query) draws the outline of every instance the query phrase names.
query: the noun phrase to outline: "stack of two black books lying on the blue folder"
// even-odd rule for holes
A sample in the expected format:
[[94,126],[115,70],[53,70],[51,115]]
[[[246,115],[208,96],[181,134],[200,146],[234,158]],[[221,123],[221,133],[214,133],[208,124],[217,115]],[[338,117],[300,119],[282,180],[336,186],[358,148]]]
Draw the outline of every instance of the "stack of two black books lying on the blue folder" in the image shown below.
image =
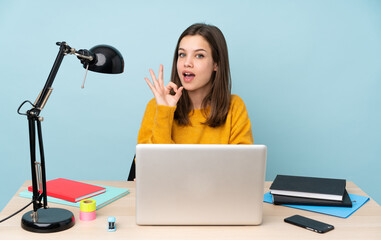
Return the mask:
[[270,186],[274,204],[352,207],[345,179],[277,175]]

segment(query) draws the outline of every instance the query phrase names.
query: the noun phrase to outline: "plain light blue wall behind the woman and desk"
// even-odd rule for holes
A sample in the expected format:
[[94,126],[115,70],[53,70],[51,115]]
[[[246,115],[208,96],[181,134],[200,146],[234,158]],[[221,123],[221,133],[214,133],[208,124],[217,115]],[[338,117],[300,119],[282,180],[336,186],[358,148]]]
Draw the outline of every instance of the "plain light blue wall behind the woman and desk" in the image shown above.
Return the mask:
[[[276,174],[345,178],[381,203],[381,1],[0,2],[0,209],[31,178],[27,119],[16,113],[43,88],[57,41],[109,44],[125,72],[85,71],[66,56],[41,113],[47,178],[125,180],[152,93],[144,77],[164,64],[196,22],[228,42],[233,93]],[[23,108],[26,111],[29,107]],[[21,207],[21,206],[20,206]]]

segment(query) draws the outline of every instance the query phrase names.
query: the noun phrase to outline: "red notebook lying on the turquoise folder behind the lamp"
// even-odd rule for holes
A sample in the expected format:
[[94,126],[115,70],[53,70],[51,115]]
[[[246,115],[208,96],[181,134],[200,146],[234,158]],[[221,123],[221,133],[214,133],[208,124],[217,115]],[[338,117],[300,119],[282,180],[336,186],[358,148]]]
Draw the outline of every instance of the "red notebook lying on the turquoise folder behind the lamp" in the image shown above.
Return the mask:
[[[28,190],[33,192],[33,187],[29,186]],[[104,192],[106,192],[104,187],[65,178],[57,178],[46,182],[46,195],[69,202],[78,202]]]

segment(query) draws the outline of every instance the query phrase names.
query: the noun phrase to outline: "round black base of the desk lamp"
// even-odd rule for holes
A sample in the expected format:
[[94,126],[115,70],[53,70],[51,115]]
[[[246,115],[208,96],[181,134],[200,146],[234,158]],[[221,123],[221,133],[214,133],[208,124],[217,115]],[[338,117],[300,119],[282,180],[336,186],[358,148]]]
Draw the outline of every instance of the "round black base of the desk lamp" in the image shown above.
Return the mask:
[[73,213],[62,208],[38,209],[37,221],[33,221],[32,213],[33,210],[25,213],[21,219],[21,227],[30,232],[59,232],[71,228],[75,223]]

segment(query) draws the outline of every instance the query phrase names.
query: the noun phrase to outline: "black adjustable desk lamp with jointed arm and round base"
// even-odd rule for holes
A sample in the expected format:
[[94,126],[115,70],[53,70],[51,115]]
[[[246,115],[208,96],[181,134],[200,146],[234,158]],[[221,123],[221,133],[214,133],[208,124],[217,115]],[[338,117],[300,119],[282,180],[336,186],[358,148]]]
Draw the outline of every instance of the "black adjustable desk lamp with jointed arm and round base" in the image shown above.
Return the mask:
[[[122,73],[124,69],[122,55],[117,49],[111,46],[98,45],[90,50],[81,49],[76,51],[65,42],[58,42],[57,45],[60,46],[60,49],[41,93],[38,95],[34,104],[30,101],[24,101],[17,110],[19,114],[27,116],[29,123],[33,210],[23,215],[21,226],[23,229],[32,232],[58,232],[74,226],[75,222],[72,212],[61,208],[48,208],[45,157],[41,132],[41,121],[43,118],[39,116],[53,90],[52,84],[64,56],[68,54],[76,55],[78,59],[81,60],[84,68],[94,72],[116,74]],[[30,103],[32,108],[26,113],[20,113],[20,109],[25,103]],[[40,162],[36,161],[36,125],[41,158]]]

